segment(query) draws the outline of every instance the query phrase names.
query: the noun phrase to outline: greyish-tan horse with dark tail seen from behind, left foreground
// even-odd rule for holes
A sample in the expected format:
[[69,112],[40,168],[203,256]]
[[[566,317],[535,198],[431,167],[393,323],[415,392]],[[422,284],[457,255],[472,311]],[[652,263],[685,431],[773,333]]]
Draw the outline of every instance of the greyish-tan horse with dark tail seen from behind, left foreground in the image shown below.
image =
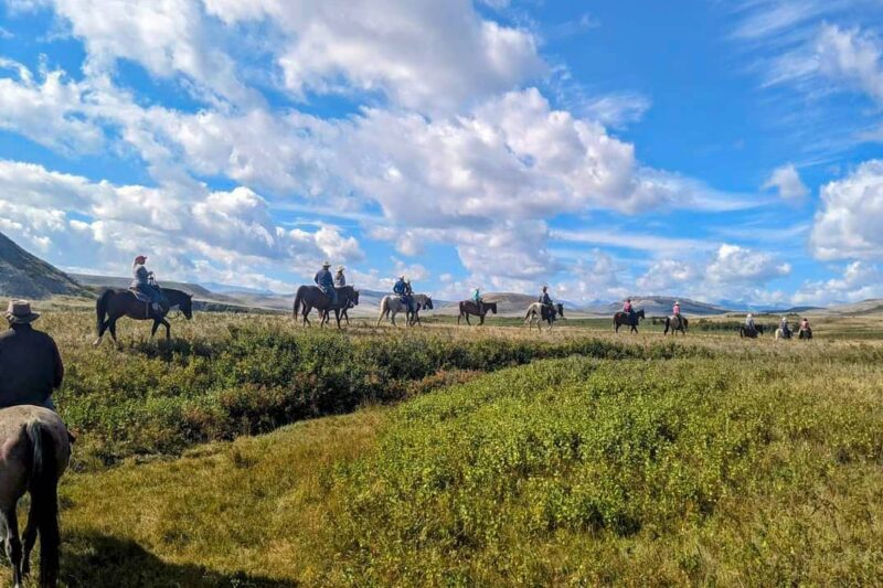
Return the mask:
[[[31,571],[31,552],[40,535],[40,586],[58,581],[58,479],[71,459],[62,419],[40,406],[0,410],[0,538],[12,565],[12,584],[21,587]],[[19,538],[17,506],[25,492],[31,507]],[[22,545],[23,543],[23,545]]]

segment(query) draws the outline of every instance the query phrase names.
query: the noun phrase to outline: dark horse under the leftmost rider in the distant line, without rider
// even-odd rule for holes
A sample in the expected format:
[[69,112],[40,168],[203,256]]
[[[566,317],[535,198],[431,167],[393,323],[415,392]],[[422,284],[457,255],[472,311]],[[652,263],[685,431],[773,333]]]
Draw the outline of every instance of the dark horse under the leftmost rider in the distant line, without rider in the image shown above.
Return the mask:
[[128,317],[137,321],[153,321],[153,328],[150,330],[151,339],[157,334],[157,329],[162,324],[166,327],[166,340],[171,339],[171,324],[166,320],[166,316],[172,310],[180,310],[187,320],[193,318],[193,296],[181,290],[173,290],[171,288],[163,288],[162,293],[169,301],[168,308],[163,307],[162,311],[157,312],[151,308],[150,302],[142,302],[138,300],[131,290],[108,288],[98,301],[95,303],[95,313],[98,319],[98,339],[95,340],[93,345],[96,348],[102,343],[104,333],[110,331],[110,336],[114,343],[119,345],[117,341],[117,320],[120,317]]

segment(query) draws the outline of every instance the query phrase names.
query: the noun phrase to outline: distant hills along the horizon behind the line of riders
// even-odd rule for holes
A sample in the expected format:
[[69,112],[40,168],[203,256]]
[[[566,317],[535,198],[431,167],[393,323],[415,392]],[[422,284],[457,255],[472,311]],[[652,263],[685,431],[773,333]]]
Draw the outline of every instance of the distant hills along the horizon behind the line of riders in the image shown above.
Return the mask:
[[[131,278],[117,276],[95,276],[87,274],[68,275],[39,257],[19,247],[9,237],[0,233],[0,297],[21,297],[29,299],[46,299],[54,296],[94,297],[104,288],[128,288]],[[259,310],[291,311],[295,293],[275,293],[257,288],[230,286],[216,282],[188,284],[162,281],[167,288],[175,288],[191,293],[200,301],[202,308],[212,310]],[[294,289],[292,289],[294,290]],[[360,304],[351,311],[353,317],[376,316],[381,299],[387,292],[377,290],[360,290]],[[488,302],[497,302],[501,317],[521,316],[536,296],[518,292],[488,292]],[[670,296],[634,296],[632,306],[643,309],[647,316],[667,316],[671,313],[674,302],[680,300],[684,314],[706,317],[727,312],[767,313],[832,313],[832,314],[883,314],[883,299],[864,300],[850,304],[837,304],[829,308],[792,307],[788,309],[755,308],[744,303],[727,302],[710,304],[687,298],[675,299]],[[457,314],[458,302],[436,299],[435,313]],[[623,302],[596,302],[587,306],[565,303],[570,317],[602,316],[609,317],[621,310]]]

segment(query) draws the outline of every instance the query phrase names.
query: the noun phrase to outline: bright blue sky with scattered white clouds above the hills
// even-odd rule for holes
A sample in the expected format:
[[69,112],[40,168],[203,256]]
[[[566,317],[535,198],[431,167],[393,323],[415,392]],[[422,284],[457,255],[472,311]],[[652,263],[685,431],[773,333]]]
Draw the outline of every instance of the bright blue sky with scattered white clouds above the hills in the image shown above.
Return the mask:
[[0,0],[0,232],[68,270],[817,304],[881,227],[879,0]]

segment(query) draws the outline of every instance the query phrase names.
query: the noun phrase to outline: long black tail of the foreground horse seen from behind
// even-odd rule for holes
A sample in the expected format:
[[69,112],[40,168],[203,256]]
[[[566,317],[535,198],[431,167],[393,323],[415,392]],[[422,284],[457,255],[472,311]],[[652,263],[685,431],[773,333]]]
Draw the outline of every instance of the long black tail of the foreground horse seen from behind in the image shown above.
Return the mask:
[[44,425],[32,420],[26,425],[33,449],[31,472],[31,516],[40,533],[40,586],[55,586],[58,579],[58,463],[55,440]]

